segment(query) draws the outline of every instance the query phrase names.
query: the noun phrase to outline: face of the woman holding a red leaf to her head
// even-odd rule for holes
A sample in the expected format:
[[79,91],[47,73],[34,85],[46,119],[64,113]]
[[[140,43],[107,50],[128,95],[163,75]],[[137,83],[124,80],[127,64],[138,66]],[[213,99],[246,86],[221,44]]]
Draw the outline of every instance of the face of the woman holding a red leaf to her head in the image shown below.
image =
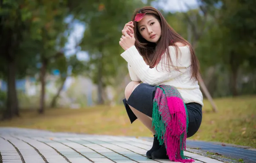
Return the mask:
[[161,25],[159,21],[152,15],[145,15],[141,21],[137,23],[138,30],[149,42],[158,42],[161,37]]

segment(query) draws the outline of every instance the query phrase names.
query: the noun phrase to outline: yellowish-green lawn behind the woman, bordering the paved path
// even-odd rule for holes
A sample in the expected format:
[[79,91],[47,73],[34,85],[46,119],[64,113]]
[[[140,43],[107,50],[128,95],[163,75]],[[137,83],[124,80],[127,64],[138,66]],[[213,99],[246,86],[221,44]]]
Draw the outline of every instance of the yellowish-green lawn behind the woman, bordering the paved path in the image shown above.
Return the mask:
[[[217,113],[204,100],[203,121],[189,139],[225,142],[256,148],[256,96],[215,99]],[[84,109],[48,109],[44,115],[21,112],[20,118],[2,121],[0,126],[26,127],[54,132],[75,132],[122,136],[150,136],[140,121],[130,123],[123,106]]]

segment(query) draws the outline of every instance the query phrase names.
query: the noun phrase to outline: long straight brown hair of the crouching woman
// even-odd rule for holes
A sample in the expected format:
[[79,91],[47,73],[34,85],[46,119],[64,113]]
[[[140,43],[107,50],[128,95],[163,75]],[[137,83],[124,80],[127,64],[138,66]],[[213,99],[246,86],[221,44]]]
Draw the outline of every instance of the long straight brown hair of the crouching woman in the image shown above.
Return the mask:
[[[147,15],[152,15],[154,16],[159,23],[161,24],[162,28],[162,34],[161,37],[158,40],[158,43],[154,42],[149,42],[146,39],[144,39],[137,27],[137,22],[134,21],[134,18],[137,13],[146,13]],[[189,46],[190,53],[191,53],[191,71],[192,71],[192,76],[198,79],[199,75],[199,61],[197,57],[195,56],[195,51],[192,48],[192,45],[186,39],[184,39],[182,36],[180,36],[165,20],[163,15],[155,8],[151,6],[145,6],[141,9],[137,9],[134,12],[134,15],[132,17],[132,21],[134,21],[134,37],[136,39],[135,41],[135,47],[138,49],[140,52],[140,55],[144,58],[146,61],[147,65],[149,67],[154,67],[156,66],[159,61],[161,60],[162,54],[165,54],[165,51],[167,52],[166,55],[168,55],[168,60],[167,60],[167,65],[173,65],[173,62],[171,60],[170,56],[170,51],[168,46],[174,46],[176,48],[176,56],[178,58],[178,46],[175,44],[176,42],[181,42],[185,45]],[[171,63],[171,64],[170,64]],[[169,67],[169,71],[171,70],[171,66]],[[174,66],[175,69],[178,70],[176,66]]]

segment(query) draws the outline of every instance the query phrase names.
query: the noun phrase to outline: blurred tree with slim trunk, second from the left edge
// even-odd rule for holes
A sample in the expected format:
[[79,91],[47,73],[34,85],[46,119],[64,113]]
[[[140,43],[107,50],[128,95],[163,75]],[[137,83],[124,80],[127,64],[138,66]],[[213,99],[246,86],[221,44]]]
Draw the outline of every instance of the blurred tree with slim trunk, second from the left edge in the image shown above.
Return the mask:
[[[65,18],[69,15],[67,2],[65,0],[45,0],[35,2],[33,11],[33,24],[31,26],[31,37],[38,47],[40,62],[40,108],[39,113],[45,108],[45,85],[46,73],[50,70],[50,62],[63,61],[64,44],[67,40],[68,23]],[[59,60],[58,60],[59,59]],[[65,63],[65,62],[62,62]],[[66,64],[58,64],[59,69],[65,69]],[[62,66],[62,67],[60,67]]]

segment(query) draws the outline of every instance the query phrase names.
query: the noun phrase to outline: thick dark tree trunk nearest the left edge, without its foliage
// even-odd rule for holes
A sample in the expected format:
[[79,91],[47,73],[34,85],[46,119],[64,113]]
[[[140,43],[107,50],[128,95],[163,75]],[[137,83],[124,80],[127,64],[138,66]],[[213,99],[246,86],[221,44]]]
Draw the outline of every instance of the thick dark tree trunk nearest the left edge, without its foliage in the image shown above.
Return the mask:
[[16,65],[15,60],[9,59],[8,60],[8,74],[7,74],[7,109],[4,115],[4,118],[10,119],[14,115],[19,115],[18,109],[18,97],[16,91]]

